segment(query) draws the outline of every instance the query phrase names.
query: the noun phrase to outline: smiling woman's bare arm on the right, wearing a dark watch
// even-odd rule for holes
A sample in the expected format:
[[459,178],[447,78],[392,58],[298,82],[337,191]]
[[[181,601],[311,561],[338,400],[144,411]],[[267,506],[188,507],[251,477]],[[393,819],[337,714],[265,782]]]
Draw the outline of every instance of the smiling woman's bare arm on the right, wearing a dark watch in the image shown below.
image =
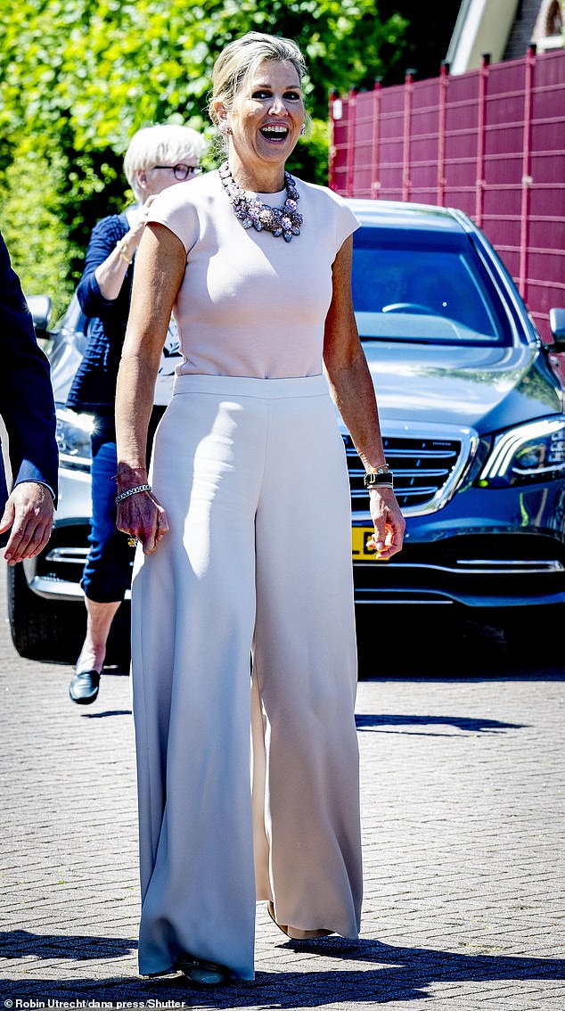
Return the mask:
[[[375,470],[386,461],[373,381],[353,311],[352,253],[353,240],[350,237],[334,262],[334,293],[325,319],[323,362],[338,409],[363,465],[366,470]],[[392,489],[375,488],[368,493],[375,526],[373,545],[380,558],[389,558],[402,547],[402,514]]]

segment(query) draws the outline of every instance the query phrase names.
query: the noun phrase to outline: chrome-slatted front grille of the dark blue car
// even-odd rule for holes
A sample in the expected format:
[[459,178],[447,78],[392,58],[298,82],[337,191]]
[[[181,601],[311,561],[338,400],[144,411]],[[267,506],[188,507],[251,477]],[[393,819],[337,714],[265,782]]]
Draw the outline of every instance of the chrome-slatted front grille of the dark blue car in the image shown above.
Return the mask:
[[[365,469],[351,436],[343,433],[343,438],[350,476],[352,511],[365,512]],[[460,439],[434,437],[383,437],[383,447],[388,466],[394,473],[396,499],[405,515],[434,512],[444,505],[469,452],[469,445]]]

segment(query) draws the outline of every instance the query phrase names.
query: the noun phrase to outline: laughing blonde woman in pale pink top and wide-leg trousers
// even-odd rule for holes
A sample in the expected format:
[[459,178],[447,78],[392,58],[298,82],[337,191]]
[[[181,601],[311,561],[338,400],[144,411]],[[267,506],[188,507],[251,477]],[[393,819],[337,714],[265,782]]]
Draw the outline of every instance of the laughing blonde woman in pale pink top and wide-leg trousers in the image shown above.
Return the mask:
[[[351,303],[357,221],[285,172],[303,70],[294,42],[255,32],[218,58],[225,162],[152,205],[118,379],[118,527],[142,546],[139,968],[201,987],[254,978],[258,900],[289,937],[358,936],[350,493],[331,393],[372,474],[375,545],[402,541]],[[148,477],[173,306],[183,363]]]

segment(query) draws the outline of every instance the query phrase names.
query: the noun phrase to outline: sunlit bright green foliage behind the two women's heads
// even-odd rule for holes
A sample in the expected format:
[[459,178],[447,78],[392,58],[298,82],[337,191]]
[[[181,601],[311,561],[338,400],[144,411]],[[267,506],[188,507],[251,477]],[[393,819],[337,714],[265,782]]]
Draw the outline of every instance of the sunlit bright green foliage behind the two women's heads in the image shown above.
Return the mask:
[[[66,282],[74,283],[92,224],[123,202],[131,134],[155,122],[209,129],[213,62],[252,29],[295,38],[306,56],[314,129],[293,168],[324,182],[328,90],[372,84],[399,59],[406,24],[394,12],[381,19],[376,0],[17,0],[0,22],[7,238],[15,241],[25,193],[26,228],[43,239],[58,233],[53,242],[66,251]],[[28,290],[48,282],[23,244],[15,259]],[[59,254],[54,263],[59,270]]]

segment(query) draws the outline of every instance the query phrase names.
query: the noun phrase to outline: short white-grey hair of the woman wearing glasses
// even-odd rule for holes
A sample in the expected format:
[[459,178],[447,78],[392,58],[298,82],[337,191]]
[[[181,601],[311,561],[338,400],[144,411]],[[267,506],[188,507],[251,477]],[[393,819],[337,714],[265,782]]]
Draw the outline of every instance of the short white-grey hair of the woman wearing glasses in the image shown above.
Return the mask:
[[191,126],[158,124],[144,126],[133,134],[123,159],[123,171],[137,200],[143,193],[137,187],[135,173],[152,169],[155,165],[178,165],[187,162],[198,165],[205,142]]

